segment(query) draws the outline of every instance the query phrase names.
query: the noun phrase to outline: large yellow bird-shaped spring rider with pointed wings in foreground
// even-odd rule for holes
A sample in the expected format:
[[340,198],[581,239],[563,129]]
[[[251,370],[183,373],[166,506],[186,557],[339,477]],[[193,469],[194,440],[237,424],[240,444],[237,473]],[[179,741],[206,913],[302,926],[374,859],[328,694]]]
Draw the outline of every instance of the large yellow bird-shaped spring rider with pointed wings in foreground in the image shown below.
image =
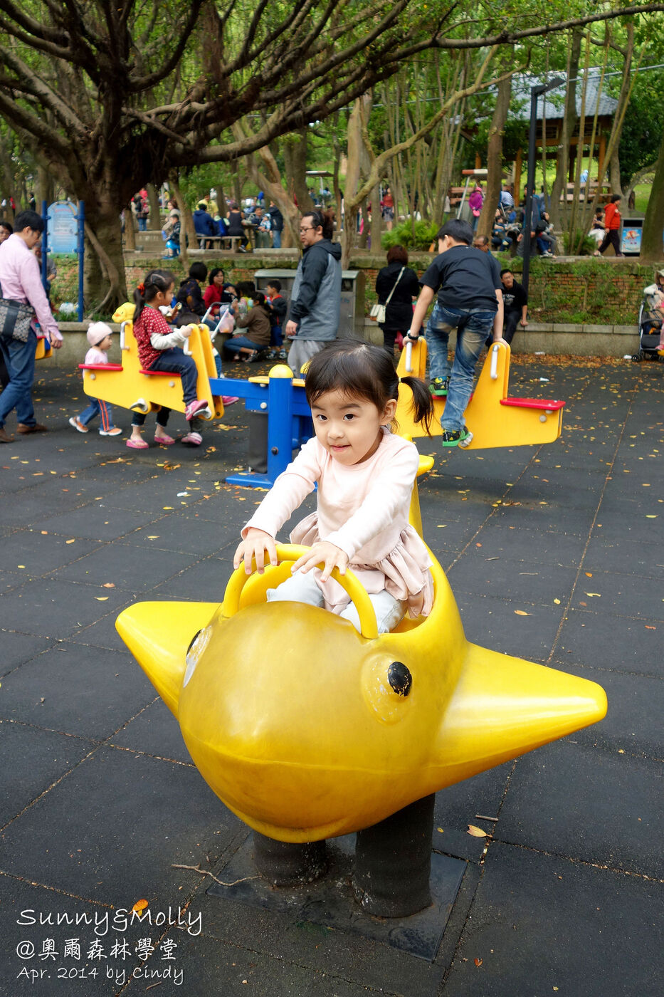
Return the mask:
[[302,550],[279,546],[280,563],[248,580],[240,566],[220,605],[142,602],[117,621],[203,779],[255,831],[304,842],[373,827],[604,716],[594,682],[469,643],[433,556],[433,612],[392,633],[378,635],[351,571],[334,576],[361,633],[266,602]]

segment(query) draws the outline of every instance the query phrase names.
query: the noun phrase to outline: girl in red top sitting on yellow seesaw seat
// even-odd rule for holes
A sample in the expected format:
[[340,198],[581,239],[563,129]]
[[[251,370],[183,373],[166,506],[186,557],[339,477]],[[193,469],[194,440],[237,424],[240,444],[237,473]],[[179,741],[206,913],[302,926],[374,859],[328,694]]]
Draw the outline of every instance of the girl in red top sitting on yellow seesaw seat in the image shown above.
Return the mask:
[[[183,344],[191,335],[191,326],[185,325],[181,329],[172,329],[166,322],[166,318],[160,308],[169,309],[172,298],[172,289],[175,286],[175,278],[168,270],[150,270],[146,274],[143,283],[139,284],[134,292],[136,310],[134,312],[134,336],[139,345],[139,360],[144,370],[168,371],[179,374],[182,382],[182,397],[185,405],[184,418],[187,422],[207,408],[207,402],[196,399],[196,381],[198,372],[192,357],[187,356],[179,344]],[[166,419],[169,410],[166,411]],[[135,450],[143,450],[148,447],[145,440],[141,438],[141,427],[145,423],[143,419],[137,419],[139,413],[134,413],[132,424],[132,436],[127,441],[127,446]],[[192,443],[191,430],[182,443]],[[195,436],[199,434],[195,433]],[[155,442],[166,444],[174,443],[172,437],[166,434],[166,422],[158,419],[158,433]]]

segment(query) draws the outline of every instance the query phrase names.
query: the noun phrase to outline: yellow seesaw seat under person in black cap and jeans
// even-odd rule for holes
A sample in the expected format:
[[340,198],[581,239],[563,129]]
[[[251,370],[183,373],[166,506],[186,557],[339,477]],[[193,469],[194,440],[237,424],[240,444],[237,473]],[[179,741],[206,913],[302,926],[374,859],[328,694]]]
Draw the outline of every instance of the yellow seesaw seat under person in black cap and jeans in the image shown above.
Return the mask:
[[[482,368],[476,389],[466,409],[465,422],[473,434],[468,450],[491,447],[521,447],[553,443],[562,430],[564,402],[534,398],[511,398],[509,387],[509,356],[507,343],[494,343]],[[424,378],[427,364],[427,341],[420,336],[417,343],[408,342],[402,352],[398,373]],[[413,437],[424,436],[424,430],[413,422],[412,392],[399,386],[397,422],[399,432]],[[436,418],[432,421],[432,436],[441,436],[441,416],[445,398],[434,397]]]

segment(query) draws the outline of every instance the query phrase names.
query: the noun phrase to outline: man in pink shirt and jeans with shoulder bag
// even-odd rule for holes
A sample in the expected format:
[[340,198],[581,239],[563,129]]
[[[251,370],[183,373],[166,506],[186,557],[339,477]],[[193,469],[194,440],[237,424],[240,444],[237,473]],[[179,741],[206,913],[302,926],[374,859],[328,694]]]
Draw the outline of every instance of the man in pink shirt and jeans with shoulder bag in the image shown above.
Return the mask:
[[[44,221],[36,211],[21,211],[16,216],[14,232],[0,244],[0,286],[3,298],[32,305],[42,334],[48,336],[57,350],[62,346],[62,336],[49,307],[33,252],[43,231]],[[0,443],[14,442],[4,426],[12,409],[16,409],[19,433],[46,432],[46,426],[35,419],[32,404],[36,348],[37,333],[33,327],[27,343],[0,337],[0,350],[9,374],[9,384],[0,395]]]

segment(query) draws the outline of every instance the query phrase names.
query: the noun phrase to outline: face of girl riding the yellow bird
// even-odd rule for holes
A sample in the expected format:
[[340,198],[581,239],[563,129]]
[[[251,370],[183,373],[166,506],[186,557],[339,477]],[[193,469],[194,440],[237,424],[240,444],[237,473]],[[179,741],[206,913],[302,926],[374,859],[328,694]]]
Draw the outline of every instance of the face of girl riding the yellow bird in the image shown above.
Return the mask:
[[379,412],[366,398],[328,391],[311,406],[316,439],[339,464],[362,464],[378,450],[381,427],[389,426],[396,408],[394,399]]

